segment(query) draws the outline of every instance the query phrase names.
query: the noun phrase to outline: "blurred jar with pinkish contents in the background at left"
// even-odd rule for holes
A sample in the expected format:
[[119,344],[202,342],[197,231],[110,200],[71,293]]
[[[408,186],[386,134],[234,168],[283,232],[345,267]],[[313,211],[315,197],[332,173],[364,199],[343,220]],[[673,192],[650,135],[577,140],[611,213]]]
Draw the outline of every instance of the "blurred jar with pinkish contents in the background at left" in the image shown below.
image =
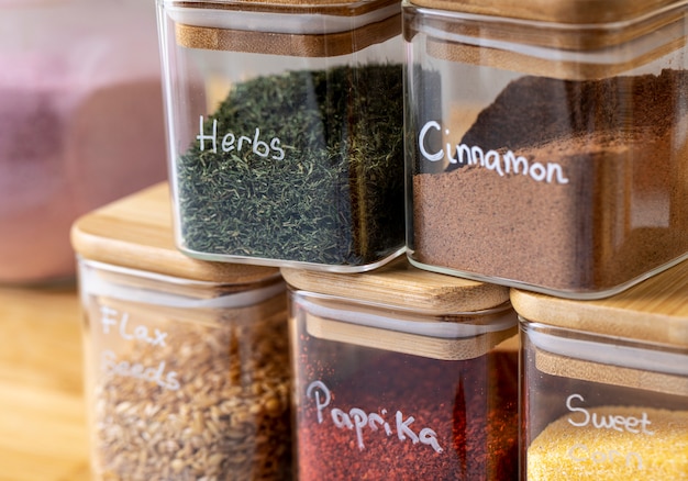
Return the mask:
[[71,280],[71,223],[166,178],[155,25],[133,0],[0,0],[0,283]]

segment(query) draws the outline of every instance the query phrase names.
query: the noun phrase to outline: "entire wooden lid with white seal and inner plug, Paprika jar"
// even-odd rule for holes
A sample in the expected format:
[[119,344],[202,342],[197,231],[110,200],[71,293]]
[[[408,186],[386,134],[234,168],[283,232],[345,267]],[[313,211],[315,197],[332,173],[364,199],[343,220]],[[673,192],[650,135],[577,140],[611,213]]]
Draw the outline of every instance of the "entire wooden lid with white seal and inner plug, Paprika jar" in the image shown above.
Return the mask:
[[[313,337],[443,360],[473,359],[500,346],[515,350],[508,340],[517,334],[515,314],[504,305],[503,287],[428,272],[406,257],[364,273],[281,273],[296,289],[339,300],[304,301],[306,329]],[[482,315],[486,310],[497,312]]]

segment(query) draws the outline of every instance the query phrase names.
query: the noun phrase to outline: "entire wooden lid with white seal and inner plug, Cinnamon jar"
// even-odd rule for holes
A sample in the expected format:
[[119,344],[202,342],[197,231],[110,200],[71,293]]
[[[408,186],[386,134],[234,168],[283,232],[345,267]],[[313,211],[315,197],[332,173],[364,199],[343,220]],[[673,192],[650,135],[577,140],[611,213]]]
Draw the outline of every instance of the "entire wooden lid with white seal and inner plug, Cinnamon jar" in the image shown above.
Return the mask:
[[[426,15],[423,22],[432,24],[435,32],[428,38],[428,55],[530,75],[572,80],[609,78],[685,46],[686,8],[675,0],[412,3],[437,9],[422,13]],[[489,16],[443,19],[446,11]],[[407,40],[414,33],[409,29]],[[490,44],[499,46],[487,46]]]

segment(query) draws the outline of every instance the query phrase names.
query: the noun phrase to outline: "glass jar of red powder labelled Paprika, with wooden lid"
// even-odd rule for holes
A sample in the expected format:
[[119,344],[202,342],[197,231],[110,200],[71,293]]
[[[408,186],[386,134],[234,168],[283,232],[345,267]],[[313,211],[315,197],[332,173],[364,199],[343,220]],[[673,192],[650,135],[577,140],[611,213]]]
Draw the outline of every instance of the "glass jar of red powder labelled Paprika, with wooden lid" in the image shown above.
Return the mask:
[[518,479],[504,288],[406,259],[365,273],[281,272],[301,481]]

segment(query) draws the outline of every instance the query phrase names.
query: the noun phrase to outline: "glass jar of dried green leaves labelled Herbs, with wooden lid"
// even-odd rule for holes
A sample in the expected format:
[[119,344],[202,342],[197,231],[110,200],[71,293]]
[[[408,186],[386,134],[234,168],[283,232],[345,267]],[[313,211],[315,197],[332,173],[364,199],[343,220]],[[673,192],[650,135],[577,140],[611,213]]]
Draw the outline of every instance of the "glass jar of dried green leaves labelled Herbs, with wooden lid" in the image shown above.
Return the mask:
[[178,248],[348,272],[401,254],[400,2],[158,5]]

